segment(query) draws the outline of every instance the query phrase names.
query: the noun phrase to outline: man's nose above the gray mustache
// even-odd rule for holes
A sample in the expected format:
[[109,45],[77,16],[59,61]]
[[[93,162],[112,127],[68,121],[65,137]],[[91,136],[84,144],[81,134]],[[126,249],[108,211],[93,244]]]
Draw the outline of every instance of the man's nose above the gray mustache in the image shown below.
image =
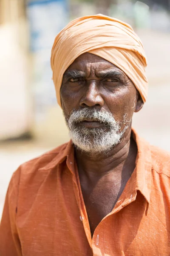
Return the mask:
[[88,81],[85,87],[84,95],[80,100],[81,107],[102,107],[104,105],[104,100],[102,99],[101,93],[99,91],[99,86],[96,81]]

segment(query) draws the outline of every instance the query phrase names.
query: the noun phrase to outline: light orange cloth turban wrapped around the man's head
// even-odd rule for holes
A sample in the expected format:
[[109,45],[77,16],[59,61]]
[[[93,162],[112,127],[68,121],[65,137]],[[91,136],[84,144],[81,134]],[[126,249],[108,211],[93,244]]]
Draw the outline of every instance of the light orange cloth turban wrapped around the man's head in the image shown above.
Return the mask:
[[81,54],[90,52],[119,67],[133,81],[143,102],[147,97],[144,48],[132,27],[105,15],[77,18],[62,29],[51,50],[51,68],[57,102],[65,70]]

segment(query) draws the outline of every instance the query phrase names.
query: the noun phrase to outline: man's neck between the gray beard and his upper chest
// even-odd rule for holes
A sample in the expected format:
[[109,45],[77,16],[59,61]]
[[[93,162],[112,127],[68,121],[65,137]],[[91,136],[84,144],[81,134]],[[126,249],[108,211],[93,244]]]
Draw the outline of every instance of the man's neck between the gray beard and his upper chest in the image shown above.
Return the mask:
[[122,141],[111,148],[107,154],[87,154],[76,148],[79,172],[86,173],[89,178],[103,176],[109,172],[122,172],[125,164],[129,165],[130,162],[135,162],[136,159],[136,143],[133,139],[130,139],[130,134],[131,129],[124,134]]

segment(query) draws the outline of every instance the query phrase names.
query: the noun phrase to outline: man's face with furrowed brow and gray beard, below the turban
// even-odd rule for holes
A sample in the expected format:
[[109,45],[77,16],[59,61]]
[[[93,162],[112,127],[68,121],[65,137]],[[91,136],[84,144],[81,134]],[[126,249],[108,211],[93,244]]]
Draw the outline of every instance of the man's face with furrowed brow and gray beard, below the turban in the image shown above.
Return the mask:
[[60,96],[73,143],[94,153],[119,143],[131,128],[133,112],[142,107],[126,74],[88,52],[65,71]]

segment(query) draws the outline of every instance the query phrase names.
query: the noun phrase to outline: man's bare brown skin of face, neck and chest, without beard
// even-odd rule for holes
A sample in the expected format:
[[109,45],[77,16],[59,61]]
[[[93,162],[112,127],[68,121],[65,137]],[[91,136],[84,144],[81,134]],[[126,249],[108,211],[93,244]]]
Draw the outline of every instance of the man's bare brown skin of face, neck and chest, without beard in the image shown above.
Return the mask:
[[[88,154],[75,148],[82,195],[93,236],[102,218],[112,211],[135,168],[137,147],[130,136],[131,120],[133,113],[142,108],[143,101],[122,70],[88,52],[80,55],[65,71],[60,96],[66,119],[73,109],[96,108],[110,111],[120,121],[121,130],[125,128],[125,113],[129,121],[121,142],[107,154]],[[104,124],[84,121],[79,125],[102,128]]]

